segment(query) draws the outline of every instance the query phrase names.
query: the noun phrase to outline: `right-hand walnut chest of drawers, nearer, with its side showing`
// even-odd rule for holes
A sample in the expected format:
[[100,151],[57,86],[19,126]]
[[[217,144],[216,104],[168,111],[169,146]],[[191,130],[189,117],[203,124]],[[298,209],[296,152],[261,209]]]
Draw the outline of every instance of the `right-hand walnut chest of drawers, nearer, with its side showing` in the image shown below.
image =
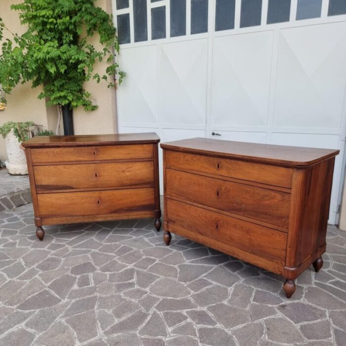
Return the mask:
[[193,138],[162,143],[164,240],[174,232],[286,278],[318,271],[338,150]]

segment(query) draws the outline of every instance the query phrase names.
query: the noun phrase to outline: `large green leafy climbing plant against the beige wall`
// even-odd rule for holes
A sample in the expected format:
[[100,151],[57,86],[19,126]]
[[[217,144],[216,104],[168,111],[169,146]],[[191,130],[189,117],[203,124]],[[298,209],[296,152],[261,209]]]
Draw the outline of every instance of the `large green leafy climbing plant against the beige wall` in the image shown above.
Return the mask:
[[[28,30],[23,35],[10,32],[0,18],[0,84],[10,93],[19,83],[32,81],[33,87],[43,86],[39,98],[47,98],[47,105],[72,108],[83,106],[94,110],[84,83],[90,79],[108,82],[108,87],[119,83],[125,73],[115,62],[119,51],[116,29],[111,16],[95,0],[23,0],[11,5],[19,11],[20,22]],[[3,39],[7,30],[12,39]],[[98,34],[101,48],[88,43]],[[95,63],[106,60],[104,74],[94,73]]]

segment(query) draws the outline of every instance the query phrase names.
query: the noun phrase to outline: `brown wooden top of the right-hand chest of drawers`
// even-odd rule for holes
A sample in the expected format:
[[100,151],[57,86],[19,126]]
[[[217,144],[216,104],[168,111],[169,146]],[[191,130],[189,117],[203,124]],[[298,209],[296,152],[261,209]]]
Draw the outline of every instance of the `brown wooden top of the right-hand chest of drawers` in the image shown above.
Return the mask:
[[177,140],[162,143],[161,147],[194,154],[208,154],[284,166],[308,166],[339,154],[339,150],[335,149],[235,142],[210,138]]

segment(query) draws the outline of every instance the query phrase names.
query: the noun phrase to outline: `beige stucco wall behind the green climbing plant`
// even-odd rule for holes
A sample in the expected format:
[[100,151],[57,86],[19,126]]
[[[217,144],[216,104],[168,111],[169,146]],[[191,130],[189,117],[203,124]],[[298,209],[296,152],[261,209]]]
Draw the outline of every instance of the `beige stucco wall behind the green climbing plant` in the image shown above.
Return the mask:
[[[21,27],[18,13],[10,10],[10,5],[19,3],[21,0],[0,0],[0,16],[6,26],[12,31],[21,34],[25,28]],[[96,5],[112,13],[111,0],[97,0]],[[11,36],[5,33],[6,37]],[[98,46],[98,38],[90,39],[90,42]],[[95,72],[103,73],[106,63],[98,63]],[[95,81],[87,82],[87,91],[91,93],[91,99],[96,100],[99,108],[96,111],[85,112],[83,108],[74,110],[74,130],[75,134],[101,134],[117,131],[116,118],[116,91],[108,88],[105,82],[96,84]],[[42,91],[41,87],[31,88],[31,84],[19,85],[15,87],[11,95],[6,95],[7,110],[0,111],[0,125],[12,121],[29,121],[42,125],[44,129],[55,130],[57,109],[47,108],[44,100],[39,100],[37,96]],[[61,126],[62,128],[62,126]],[[0,159],[7,159],[5,144],[0,137]]]

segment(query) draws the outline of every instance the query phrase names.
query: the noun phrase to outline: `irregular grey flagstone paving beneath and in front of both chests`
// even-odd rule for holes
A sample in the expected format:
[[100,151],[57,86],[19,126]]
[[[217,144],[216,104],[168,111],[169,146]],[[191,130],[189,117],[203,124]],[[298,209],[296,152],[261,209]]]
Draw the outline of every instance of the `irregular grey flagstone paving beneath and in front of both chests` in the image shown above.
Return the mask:
[[346,232],[287,300],[283,279],[153,220],[45,227],[0,214],[0,345],[346,345]]

